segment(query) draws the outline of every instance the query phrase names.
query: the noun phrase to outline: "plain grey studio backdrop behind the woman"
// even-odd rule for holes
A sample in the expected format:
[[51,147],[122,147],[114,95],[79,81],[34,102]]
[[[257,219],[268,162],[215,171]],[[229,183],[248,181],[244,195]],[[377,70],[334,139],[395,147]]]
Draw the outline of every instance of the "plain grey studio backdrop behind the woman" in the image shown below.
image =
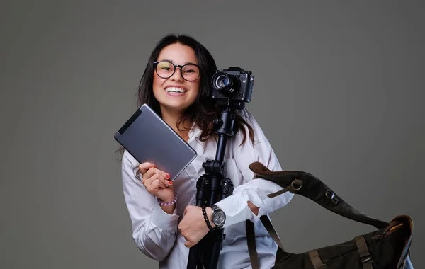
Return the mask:
[[[132,241],[114,133],[166,33],[253,71],[248,107],[284,169],[414,219],[424,268],[424,2],[2,1],[0,268],[157,268]],[[288,251],[375,230],[295,197]]]

